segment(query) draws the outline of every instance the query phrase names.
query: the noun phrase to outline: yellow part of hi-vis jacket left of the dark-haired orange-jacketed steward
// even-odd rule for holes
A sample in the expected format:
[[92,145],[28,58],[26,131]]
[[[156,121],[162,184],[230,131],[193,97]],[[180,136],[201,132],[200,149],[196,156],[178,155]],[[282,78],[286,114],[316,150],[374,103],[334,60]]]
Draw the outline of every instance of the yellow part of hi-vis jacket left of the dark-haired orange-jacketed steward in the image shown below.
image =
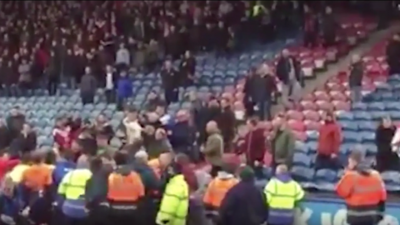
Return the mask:
[[76,169],[69,171],[58,186],[58,194],[64,195],[65,199],[77,200],[85,194],[86,182],[92,177],[88,169]]

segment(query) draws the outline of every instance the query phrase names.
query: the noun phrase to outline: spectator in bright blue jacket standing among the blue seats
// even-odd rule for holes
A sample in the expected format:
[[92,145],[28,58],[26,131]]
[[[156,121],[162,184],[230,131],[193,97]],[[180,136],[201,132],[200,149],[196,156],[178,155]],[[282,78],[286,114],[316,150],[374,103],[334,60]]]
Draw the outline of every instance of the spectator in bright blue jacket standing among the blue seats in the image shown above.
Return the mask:
[[117,82],[117,110],[122,110],[128,98],[132,97],[133,84],[126,71],[120,72]]

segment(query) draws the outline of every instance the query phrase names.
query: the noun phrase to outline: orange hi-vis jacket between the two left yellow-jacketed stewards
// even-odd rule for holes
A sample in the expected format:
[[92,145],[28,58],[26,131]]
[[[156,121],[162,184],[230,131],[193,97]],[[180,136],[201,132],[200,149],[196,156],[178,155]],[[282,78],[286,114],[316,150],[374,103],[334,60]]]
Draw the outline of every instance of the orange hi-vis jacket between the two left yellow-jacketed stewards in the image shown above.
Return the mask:
[[108,178],[108,200],[134,203],[144,196],[144,185],[136,172],[125,175],[114,172]]

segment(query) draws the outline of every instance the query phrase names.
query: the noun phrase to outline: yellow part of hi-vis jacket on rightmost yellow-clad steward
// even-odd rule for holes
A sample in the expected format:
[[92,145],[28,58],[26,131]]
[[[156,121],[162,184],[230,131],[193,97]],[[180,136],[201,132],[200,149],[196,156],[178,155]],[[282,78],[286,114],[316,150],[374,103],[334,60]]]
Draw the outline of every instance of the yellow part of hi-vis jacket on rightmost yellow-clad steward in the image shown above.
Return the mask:
[[272,178],[264,188],[270,208],[293,209],[296,201],[304,197],[303,188],[294,180],[284,183]]

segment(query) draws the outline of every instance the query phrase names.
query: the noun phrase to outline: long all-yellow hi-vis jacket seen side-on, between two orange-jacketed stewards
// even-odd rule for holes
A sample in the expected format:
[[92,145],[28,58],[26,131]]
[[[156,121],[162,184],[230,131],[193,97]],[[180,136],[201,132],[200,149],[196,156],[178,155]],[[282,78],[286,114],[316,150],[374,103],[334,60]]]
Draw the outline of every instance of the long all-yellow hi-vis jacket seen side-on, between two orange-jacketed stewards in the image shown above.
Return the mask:
[[185,225],[189,210],[189,186],[183,175],[176,175],[168,182],[155,222],[166,225]]

